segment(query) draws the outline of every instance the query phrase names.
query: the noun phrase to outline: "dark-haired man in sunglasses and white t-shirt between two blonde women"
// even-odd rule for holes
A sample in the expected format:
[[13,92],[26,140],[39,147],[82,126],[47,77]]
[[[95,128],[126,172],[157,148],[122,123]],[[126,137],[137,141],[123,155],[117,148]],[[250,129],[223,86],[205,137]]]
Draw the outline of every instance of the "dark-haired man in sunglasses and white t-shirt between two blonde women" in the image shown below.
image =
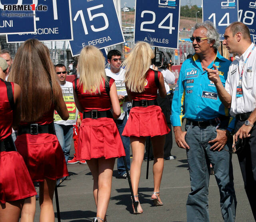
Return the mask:
[[[130,170],[130,138],[123,137],[122,133],[124,131],[124,127],[127,122],[127,118],[129,116],[130,109],[132,108],[131,102],[128,100],[126,87],[124,84],[124,69],[121,69],[120,66],[122,64],[122,54],[118,50],[110,50],[108,52],[108,63],[110,64],[110,69],[105,69],[106,75],[115,80],[117,95],[120,102],[121,107],[121,115],[118,119],[116,119],[116,125],[118,131],[120,133],[124,151],[126,154],[126,162],[128,170]],[[117,169],[120,178],[127,178],[126,169],[124,165],[124,160],[122,158],[118,158],[117,160]]]

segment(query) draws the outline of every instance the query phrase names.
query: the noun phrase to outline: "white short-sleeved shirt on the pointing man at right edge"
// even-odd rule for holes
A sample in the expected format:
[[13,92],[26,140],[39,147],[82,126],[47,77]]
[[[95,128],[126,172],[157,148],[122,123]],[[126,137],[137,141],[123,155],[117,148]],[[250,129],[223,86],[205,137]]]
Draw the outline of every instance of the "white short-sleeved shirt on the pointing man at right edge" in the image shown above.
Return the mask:
[[[252,51],[246,64],[244,62],[251,52],[252,43],[240,57],[237,55],[228,70],[225,89],[231,95],[230,115],[235,116],[240,113],[254,111],[256,107],[256,48]],[[242,97],[236,97],[236,87],[244,67],[242,76]]]

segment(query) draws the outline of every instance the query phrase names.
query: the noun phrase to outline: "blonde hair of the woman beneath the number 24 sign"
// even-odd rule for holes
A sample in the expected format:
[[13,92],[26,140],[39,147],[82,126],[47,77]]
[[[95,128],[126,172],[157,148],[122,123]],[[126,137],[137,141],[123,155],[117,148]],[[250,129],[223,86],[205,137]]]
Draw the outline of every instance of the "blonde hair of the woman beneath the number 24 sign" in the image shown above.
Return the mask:
[[151,59],[155,57],[150,44],[138,42],[132,52],[125,59],[122,67],[125,69],[125,84],[132,92],[144,91],[144,82]]

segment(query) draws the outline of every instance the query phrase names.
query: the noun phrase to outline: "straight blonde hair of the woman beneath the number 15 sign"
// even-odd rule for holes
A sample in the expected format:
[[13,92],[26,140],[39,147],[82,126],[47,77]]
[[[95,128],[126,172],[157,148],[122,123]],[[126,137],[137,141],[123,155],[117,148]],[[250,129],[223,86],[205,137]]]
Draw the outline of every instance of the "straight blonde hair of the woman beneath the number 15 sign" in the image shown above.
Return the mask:
[[84,47],[78,59],[77,69],[80,74],[79,84],[83,85],[83,90],[92,94],[98,89],[100,93],[100,84],[103,85],[103,79],[106,80],[105,58],[102,52],[94,46]]

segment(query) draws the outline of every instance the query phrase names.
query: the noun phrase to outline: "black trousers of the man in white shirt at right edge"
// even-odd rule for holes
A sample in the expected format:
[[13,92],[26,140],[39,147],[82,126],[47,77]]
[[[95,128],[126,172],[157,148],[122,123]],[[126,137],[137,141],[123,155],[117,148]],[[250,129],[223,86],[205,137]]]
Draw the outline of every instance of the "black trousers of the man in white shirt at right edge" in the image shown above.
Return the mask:
[[[244,121],[236,120],[235,131],[244,124]],[[254,220],[256,220],[256,126],[250,131],[251,136],[246,138],[245,148],[239,153],[238,161],[244,179],[246,191]]]

